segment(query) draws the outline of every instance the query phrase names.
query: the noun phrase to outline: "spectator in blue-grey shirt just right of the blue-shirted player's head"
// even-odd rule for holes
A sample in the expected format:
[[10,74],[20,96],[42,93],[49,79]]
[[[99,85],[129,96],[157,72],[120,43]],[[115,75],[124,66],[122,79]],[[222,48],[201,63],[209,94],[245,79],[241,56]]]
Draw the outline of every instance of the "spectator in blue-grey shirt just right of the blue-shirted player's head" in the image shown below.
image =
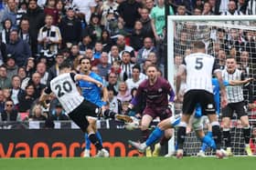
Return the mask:
[[106,52],[103,52],[101,54],[100,61],[101,63],[97,65],[99,70],[99,75],[101,75],[103,79],[106,79],[108,72],[109,70],[111,70],[111,67],[112,67],[112,65],[108,63],[108,54]]

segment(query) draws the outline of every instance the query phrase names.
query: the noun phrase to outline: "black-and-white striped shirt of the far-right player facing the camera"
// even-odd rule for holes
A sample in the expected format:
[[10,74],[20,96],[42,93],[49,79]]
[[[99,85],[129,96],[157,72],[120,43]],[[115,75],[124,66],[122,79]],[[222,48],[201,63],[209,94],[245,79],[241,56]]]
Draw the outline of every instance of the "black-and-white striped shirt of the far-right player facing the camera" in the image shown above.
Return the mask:
[[[243,80],[244,75],[241,73],[239,69],[236,69],[234,73],[229,74],[227,69],[222,71],[223,81],[230,81],[230,80]],[[227,88],[227,95],[228,95],[228,103],[238,103],[244,100],[243,92],[242,92],[242,85],[229,85]]]

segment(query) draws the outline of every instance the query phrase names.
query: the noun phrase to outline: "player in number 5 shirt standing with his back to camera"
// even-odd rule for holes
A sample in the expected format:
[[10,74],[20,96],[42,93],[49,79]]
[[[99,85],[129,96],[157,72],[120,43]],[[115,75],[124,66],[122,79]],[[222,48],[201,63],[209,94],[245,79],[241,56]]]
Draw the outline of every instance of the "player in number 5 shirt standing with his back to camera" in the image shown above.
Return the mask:
[[[206,54],[206,45],[201,41],[197,41],[194,44],[193,50],[194,53],[187,55],[183,64],[179,66],[176,76],[177,94],[181,84],[181,76],[184,73],[187,74],[187,90],[184,95],[182,106],[183,114],[177,129],[178,150],[176,157],[183,157],[183,145],[185,142],[187,124],[190,115],[193,114],[197,104],[199,104],[202,107],[202,113],[208,115],[209,122],[212,126],[212,134],[217,147],[216,156],[222,158],[224,154],[220,151],[221,134],[211,83],[212,73],[215,74],[219,80],[222,106],[227,105],[226,89],[223,85],[219,65],[217,65],[215,58],[212,55]],[[177,101],[179,101],[178,96]]]

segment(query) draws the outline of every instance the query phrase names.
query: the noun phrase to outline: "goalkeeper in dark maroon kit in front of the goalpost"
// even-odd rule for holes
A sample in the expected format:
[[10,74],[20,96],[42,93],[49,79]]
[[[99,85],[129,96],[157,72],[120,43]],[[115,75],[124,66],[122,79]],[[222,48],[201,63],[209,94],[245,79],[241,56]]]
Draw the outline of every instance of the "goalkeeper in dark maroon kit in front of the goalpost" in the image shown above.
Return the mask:
[[[133,108],[133,105],[138,105],[138,101],[141,101],[142,96],[145,97],[146,106],[141,121],[142,142],[144,142],[150,134],[148,127],[155,117],[159,117],[162,121],[172,115],[168,105],[171,104],[175,98],[172,86],[165,80],[165,78],[157,75],[157,68],[155,65],[147,66],[146,75],[148,76],[148,79],[144,80],[144,82],[139,85],[137,93],[128,105],[128,110],[126,111],[129,112]],[[170,96],[169,100],[168,95]],[[168,142],[172,136],[172,130],[166,129],[165,135],[161,136],[162,139],[160,140],[160,144],[155,145],[155,151],[153,152],[153,155],[155,156],[159,154],[161,145]],[[147,155],[150,155],[150,153],[151,151],[148,150]]]

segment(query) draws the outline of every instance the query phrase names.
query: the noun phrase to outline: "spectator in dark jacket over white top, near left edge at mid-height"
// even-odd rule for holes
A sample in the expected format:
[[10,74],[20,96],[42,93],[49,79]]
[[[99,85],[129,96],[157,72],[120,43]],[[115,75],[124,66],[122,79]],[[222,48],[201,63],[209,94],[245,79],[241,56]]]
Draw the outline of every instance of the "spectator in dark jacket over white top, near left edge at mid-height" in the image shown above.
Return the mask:
[[18,75],[14,75],[12,77],[12,87],[10,88],[10,98],[12,99],[16,109],[19,109],[19,103],[23,102],[21,101],[20,97],[22,95],[25,95],[25,91],[21,89],[21,80]]

